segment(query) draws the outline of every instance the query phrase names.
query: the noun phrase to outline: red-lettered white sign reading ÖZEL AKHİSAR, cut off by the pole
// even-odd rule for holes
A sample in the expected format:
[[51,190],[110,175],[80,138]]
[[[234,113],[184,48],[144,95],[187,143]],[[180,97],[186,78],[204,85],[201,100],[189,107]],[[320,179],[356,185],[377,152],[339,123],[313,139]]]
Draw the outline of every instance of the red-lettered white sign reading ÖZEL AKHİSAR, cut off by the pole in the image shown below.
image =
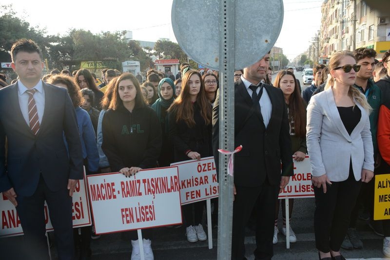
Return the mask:
[[218,182],[214,157],[171,164],[179,169],[181,204],[218,197]]

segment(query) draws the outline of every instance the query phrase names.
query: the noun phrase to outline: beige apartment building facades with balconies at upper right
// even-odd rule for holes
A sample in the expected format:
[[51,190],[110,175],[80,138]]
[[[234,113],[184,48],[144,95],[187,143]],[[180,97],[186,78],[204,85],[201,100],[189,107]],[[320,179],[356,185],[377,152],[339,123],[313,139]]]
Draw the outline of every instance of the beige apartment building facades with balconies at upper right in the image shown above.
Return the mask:
[[377,58],[390,49],[390,14],[372,9],[363,0],[325,0],[321,6],[318,63],[342,50],[374,49]]

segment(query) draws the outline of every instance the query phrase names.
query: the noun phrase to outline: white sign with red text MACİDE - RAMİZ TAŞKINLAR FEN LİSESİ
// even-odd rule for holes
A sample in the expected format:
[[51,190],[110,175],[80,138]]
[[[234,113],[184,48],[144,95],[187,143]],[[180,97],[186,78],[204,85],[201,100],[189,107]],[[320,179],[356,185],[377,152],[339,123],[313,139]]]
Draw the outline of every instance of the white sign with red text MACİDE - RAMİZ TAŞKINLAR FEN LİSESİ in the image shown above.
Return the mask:
[[87,176],[97,234],[180,224],[177,167]]

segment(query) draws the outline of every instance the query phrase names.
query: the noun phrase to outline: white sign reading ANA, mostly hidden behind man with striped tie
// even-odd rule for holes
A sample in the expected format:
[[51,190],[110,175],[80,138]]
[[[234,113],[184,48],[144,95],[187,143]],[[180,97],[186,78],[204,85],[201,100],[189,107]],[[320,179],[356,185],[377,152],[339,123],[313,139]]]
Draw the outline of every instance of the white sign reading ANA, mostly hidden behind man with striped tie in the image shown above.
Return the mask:
[[[85,178],[85,175],[84,175]],[[0,210],[1,210],[1,237],[12,237],[23,235],[18,213],[14,204],[12,204],[2,193],[0,193]],[[45,202],[45,223],[46,231],[52,231],[53,226],[50,222],[50,212]],[[84,180],[79,180],[76,190],[73,193],[72,208],[73,227],[82,227],[91,225],[91,215],[89,210],[89,200],[87,188]]]

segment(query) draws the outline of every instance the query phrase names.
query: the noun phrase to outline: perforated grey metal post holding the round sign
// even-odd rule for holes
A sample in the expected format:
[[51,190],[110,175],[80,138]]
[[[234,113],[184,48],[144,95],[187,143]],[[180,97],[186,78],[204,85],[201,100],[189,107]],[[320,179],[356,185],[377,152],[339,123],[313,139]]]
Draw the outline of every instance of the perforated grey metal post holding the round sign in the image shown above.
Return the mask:
[[[219,48],[219,148],[234,150],[234,0],[223,0],[220,6],[221,31]],[[237,68],[238,69],[238,68]],[[218,248],[217,259],[232,255],[233,185],[227,174],[228,156],[219,155]]]

